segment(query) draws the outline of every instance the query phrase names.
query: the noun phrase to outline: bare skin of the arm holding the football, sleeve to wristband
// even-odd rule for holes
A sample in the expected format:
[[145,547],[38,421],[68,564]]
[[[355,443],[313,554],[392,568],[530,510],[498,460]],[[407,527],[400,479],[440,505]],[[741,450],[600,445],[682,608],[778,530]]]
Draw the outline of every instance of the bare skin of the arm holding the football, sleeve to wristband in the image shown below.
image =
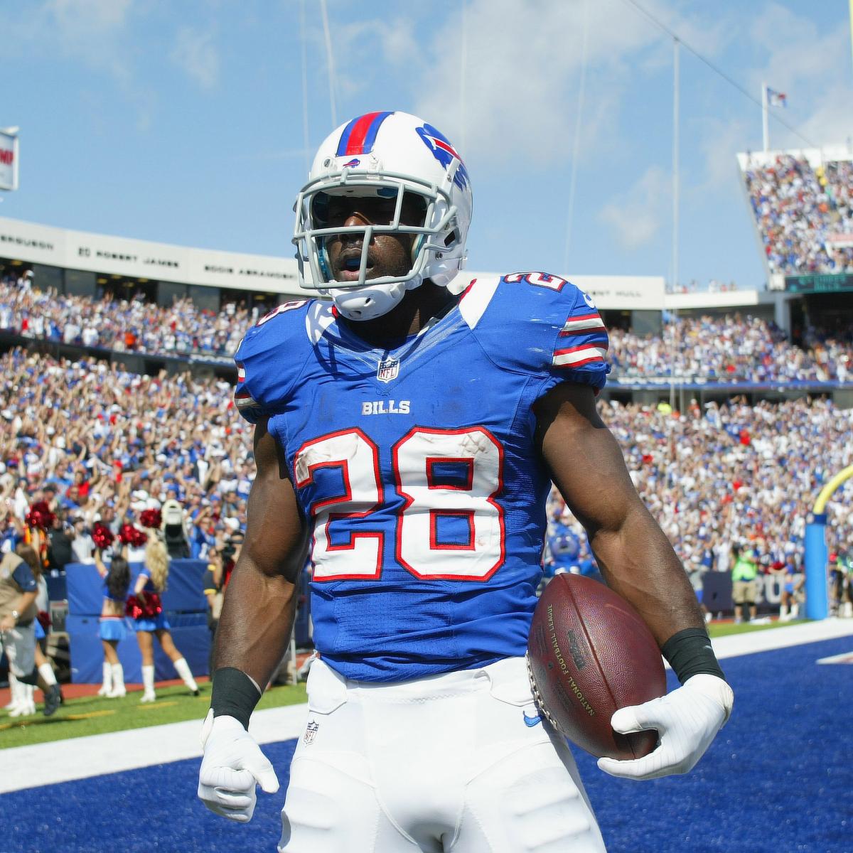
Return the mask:
[[608,585],[635,606],[660,646],[677,631],[704,630],[681,561],[637,494],[592,388],[557,386],[536,414],[543,458]]

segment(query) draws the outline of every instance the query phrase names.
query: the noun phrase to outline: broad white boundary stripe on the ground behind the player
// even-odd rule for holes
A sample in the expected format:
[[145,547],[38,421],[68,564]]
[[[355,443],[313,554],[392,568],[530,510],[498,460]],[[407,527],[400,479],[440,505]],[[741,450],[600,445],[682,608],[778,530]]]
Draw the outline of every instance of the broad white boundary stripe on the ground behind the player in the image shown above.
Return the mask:
[[[832,618],[717,637],[712,643],[724,659],[850,635],[853,619]],[[249,731],[260,744],[293,740],[304,731],[307,714],[305,704],[256,711]],[[200,729],[199,720],[189,720],[0,750],[0,794],[200,758]]]

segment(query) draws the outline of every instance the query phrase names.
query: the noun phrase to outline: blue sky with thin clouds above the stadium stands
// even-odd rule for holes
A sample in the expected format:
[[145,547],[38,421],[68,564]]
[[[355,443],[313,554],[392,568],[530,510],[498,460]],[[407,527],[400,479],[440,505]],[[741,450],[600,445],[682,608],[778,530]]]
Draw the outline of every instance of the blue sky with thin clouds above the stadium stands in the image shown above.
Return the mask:
[[[853,137],[848,3],[637,2],[756,98],[786,92],[809,141]],[[587,3],[328,0],[335,118],[401,109],[450,137],[472,269],[670,276],[671,41],[629,0]],[[0,126],[21,128],[0,215],[292,255],[305,139],[333,128],[319,0],[0,0],[0,32]],[[681,83],[679,278],[760,285],[734,159],[760,110],[683,48]]]

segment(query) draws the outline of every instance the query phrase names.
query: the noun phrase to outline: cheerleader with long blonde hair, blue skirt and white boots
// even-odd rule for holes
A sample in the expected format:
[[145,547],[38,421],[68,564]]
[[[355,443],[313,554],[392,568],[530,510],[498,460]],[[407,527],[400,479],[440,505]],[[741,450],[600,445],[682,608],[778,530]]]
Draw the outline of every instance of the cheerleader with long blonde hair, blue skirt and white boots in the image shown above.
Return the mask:
[[165,543],[152,531],[145,543],[145,566],[136,578],[133,595],[127,600],[127,612],[136,623],[136,641],[142,653],[142,702],[154,702],[154,637],[169,656],[172,664],[194,696],[199,695],[189,664],[175,647],[165,618],[160,593],[165,589],[169,577],[169,554]]

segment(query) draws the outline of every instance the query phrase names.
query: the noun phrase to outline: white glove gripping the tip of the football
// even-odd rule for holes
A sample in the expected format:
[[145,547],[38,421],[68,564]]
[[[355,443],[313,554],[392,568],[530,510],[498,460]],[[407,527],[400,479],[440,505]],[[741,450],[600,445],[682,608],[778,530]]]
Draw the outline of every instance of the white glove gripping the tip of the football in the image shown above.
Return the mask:
[[734,693],[722,678],[700,674],[642,705],[620,708],[610,724],[622,734],[657,728],[658,748],[633,761],[599,758],[598,766],[625,779],[659,779],[693,769],[732,712]]

